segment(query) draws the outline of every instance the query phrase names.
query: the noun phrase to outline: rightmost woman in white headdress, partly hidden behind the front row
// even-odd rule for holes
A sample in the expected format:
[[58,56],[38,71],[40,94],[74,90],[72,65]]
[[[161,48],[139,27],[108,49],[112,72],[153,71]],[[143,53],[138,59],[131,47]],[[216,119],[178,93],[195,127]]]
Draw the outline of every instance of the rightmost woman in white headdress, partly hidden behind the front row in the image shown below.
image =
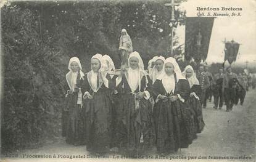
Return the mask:
[[202,93],[202,88],[199,85],[199,81],[196,78],[196,73],[194,73],[194,69],[191,67],[191,65],[186,66],[182,74],[188,79],[189,82],[190,94],[189,99],[186,102],[189,110],[191,111],[191,127],[194,127],[194,130],[192,130],[193,139],[196,139],[196,134],[202,132],[205,126],[202,115],[202,106],[199,99],[199,96]]

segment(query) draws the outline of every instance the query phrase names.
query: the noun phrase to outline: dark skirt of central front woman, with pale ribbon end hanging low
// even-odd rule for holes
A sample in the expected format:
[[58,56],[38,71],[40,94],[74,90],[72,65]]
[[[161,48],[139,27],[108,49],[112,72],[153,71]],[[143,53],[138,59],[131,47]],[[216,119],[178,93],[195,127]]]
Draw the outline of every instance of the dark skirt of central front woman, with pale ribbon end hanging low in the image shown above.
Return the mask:
[[117,142],[122,150],[149,150],[154,146],[155,132],[153,111],[149,100],[141,99],[135,108],[132,94],[118,95]]

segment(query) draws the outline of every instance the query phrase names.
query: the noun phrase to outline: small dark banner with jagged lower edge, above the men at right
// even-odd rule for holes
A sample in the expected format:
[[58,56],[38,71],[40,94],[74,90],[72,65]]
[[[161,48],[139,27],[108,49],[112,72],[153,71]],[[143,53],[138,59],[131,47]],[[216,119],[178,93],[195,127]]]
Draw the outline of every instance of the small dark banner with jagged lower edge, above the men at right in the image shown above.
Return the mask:
[[239,43],[236,43],[235,41],[228,41],[225,42],[225,58],[224,62],[228,60],[228,63],[231,64],[236,61],[236,56],[239,51]]

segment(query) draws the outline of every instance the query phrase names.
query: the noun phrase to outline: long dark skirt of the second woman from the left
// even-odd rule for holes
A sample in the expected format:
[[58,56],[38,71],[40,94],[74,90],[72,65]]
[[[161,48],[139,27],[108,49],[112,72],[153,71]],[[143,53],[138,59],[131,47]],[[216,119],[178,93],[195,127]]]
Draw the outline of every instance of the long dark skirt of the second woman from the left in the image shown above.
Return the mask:
[[86,148],[91,152],[107,152],[112,133],[112,103],[106,92],[94,93],[86,105]]

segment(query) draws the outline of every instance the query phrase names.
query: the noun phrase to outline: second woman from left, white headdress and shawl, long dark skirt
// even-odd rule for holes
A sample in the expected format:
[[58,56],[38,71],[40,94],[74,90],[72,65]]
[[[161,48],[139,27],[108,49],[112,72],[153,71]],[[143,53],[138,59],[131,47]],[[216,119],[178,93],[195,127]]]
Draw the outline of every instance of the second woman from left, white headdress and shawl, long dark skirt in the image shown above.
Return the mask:
[[91,58],[91,71],[85,75],[83,95],[86,107],[86,138],[89,151],[107,152],[111,140],[111,101],[109,80],[103,70],[101,54]]

